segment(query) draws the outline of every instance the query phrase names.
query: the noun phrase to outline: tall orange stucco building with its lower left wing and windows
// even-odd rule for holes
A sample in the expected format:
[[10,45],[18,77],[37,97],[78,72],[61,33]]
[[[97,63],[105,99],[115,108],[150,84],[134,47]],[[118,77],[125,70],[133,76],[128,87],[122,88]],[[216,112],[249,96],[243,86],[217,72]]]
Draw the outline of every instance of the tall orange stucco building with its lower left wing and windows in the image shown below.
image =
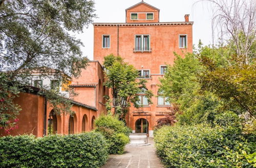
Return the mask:
[[[159,78],[164,76],[166,65],[174,64],[174,52],[183,55],[184,52],[193,51],[193,22],[189,21],[189,15],[185,15],[184,21],[181,22],[160,22],[160,10],[143,1],[125,11],[124,23],[93,23],[94,60],[102,65],[106,55],[111,53],[120,55],[125,62],[138,69],[138,79],[147,80],[147,89],[152,90],[156,96],[152,98],[154,104],[148,105],[142,94],[140,103],[143,107],[139,109],[131,107],[125,121],[133,132],[145,132],[144,125],[147,121],[147,132],[152,136],[156,121],[163,118],[172,109],[172,105],[166,102],[158,92]],[[81,86],[82,83],[95,82],[102,89],[98,95],[96,94],[100,99],[102,93],[107,92],[102,87],[104,79],[99,81],[97,81],[98,78],[94,79],[94,74],[99,76],[99,70],[102,69],[96,70],[95,65],[88,67],[82,72],[79,79],[72,82],[72,85],[76,83],[77,86]],[[89,92],[86,87],[78,90],[80,93]],[[92,92],[93,90],[91,90]],[[88,104],[92,101],[91,98],[80,94],[75,99]],[[103,102],[103,99],[97,100],[98,109],[101,108],[100,102]],[[92,102],[90,103],[89,105],[93,105]]]

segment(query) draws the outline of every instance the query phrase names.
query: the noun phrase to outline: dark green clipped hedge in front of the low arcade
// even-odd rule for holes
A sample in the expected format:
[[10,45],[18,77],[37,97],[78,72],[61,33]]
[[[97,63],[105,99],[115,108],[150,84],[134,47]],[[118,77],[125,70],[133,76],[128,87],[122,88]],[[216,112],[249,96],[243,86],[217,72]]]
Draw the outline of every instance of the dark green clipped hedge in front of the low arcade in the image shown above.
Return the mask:
[[96,132],[0,138],[0,167],[100,167],[107,159],[105,138]]

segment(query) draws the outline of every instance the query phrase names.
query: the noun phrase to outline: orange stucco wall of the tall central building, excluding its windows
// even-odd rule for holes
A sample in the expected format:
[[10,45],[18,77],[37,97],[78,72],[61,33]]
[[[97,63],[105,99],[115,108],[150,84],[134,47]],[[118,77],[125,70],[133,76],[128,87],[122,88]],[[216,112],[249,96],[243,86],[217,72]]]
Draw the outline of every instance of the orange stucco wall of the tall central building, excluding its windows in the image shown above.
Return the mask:
[[[131,13],[154,12],[154,20],[131,20]],[[193,22],[189,22],[186,15],[185,22],[159,22],[159,11],[145,5],[143,2],[126,11],[126,23],[94,23],[94,60],[103,63],[104,57],[113,53],[120,55],[124,61],[132,64],[138,70],[150,70],[150,77],[146,87],[157,96],[160,84],[161,65],[173,65],[174,52],[182,57],[186,52],[193,52]],[[139,15],[139,18],[142,17]],[[158,23],[159,22],[159,23]],[[110,35],[110,48],[102,48],[102,35]],[[150,35],[150,51],[134,51],[135,36]],[[186,48],[180,48],[179,36],[187,36]],[[157,97],[153,97],[154,104],[136,109],[131,107],[126,115],[126,123],[135,131],[135,122],[146,119],[149,123],[149,133],[152,136],[157,120],[172,111],[172,106],[158,105]]]

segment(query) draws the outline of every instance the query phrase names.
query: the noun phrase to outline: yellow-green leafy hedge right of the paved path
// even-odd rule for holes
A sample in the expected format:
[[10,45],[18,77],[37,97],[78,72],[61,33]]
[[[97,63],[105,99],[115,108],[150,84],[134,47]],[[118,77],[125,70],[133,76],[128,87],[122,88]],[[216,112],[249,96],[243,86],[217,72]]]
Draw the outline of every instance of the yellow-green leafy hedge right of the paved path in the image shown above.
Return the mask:
[[234,127],[164,126],[154,141],[167,167],[256,166],[255,138]]

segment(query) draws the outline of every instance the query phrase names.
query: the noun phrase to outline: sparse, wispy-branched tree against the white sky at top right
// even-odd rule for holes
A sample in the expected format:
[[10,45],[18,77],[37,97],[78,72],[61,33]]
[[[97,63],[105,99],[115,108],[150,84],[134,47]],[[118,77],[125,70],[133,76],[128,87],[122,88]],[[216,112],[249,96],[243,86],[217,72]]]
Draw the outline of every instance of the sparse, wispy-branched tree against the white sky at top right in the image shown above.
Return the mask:
[[[255,59],[256,4],[253,0],[203,0],[209,2],[213,11],[212,26],[218,29],[221,44],[227,42],[236,52],[233,59],[251,65]],[[214,30],[213,30],[214,31]],[[213,38],[213,37],[212,37]],[[230,43],[231,42],[231,43]],[[254,46],[255,47],[255,46]],[[254,50],[254,52],[252,52]]]

